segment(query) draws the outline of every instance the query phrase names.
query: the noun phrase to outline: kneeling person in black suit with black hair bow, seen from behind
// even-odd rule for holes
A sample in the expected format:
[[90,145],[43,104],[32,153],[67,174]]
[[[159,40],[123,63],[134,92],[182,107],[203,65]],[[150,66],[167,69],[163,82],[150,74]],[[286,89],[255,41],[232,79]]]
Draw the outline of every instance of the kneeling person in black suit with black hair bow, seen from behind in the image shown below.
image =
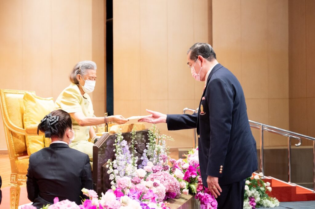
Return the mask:
[[[82,188],[93,189],[89,156],[69,147],[74,138],[69,113],[55,110],[38,129],[51,137],[49,147],[31,154],[27,170],[27,195],[37,208],[53,204],[54,198],[80,205]],[[80,197],[81,196],[81,197]]]

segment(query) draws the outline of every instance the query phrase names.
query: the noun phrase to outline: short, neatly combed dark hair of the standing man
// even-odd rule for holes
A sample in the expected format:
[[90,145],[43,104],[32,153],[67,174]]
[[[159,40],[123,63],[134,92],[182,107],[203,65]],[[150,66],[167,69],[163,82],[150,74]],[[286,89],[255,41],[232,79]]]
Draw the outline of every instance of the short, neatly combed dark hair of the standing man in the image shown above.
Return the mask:
[[195,60],[198,58],[198,56],[202,56],[203,58],[206,58],[208,61],[212,61],[213,59],[216,59],[215,51],[211,47],[210,44],[207,43],[195,43],[188,49],[187,54],[190,52],[190,59]]

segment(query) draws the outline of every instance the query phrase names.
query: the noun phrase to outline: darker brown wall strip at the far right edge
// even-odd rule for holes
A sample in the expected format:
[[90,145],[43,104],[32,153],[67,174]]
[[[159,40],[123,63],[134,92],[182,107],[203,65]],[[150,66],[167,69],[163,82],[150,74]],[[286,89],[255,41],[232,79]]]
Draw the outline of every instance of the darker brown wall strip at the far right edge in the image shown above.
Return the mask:
[[[289,115],[292,131],[315,137],[315,2],[289,0]],[[304,140],[303,145],[312,145]]]

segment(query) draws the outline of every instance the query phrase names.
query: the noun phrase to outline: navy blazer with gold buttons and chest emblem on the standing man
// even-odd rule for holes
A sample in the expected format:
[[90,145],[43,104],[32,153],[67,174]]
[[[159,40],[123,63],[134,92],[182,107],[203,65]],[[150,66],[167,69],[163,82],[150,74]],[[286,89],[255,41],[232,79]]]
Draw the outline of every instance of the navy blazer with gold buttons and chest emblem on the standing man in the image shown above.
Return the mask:
[[257,170],[256,141],[243,89],[221,64],[208,76],[198,114],[167,115],[166,122],[169,130],[197,128],[204,186],[208,175],[219,177],[219,184],[225,185],[246,179]]

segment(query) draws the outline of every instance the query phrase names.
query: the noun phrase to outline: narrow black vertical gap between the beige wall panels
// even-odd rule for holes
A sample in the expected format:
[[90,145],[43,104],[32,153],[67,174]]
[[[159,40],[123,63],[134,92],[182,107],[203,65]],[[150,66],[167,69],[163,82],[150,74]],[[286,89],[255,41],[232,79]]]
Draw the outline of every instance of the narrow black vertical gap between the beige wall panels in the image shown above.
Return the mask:
[[113,0],[106,0],[106,111],[114,114],[113,93]]

